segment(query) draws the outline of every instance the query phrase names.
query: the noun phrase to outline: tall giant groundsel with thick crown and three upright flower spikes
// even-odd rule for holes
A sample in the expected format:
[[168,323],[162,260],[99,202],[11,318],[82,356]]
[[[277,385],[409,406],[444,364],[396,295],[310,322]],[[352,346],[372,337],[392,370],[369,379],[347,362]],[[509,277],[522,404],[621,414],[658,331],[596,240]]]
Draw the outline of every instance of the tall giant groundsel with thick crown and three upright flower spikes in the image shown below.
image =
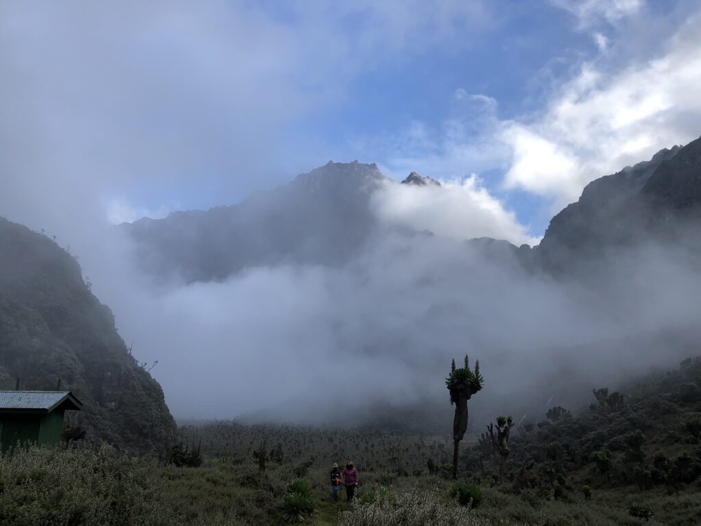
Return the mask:
[[475,370],[470,370],[470,360],[465,355],[465,367],[456,369],[455,360],[451,365],[450,375],[445,379],[450,391],[450,403],[455,404],[453,419],[453,478],[458,478],[458,451],[460,441],[468,429],[468,400],[477,391],[482,390],[484,378],[479,374],[479,361],[475,362]]

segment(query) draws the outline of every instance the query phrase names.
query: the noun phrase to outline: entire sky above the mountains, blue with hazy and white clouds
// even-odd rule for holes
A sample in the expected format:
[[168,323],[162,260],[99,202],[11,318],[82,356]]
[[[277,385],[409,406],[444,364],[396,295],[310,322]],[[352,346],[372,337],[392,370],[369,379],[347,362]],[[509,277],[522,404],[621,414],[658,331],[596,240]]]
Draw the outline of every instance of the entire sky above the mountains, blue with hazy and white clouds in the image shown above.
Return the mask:
[[531,242],[587,182],[701,134],[699,11],[692,0],[4,2],[0,206],[32,225],[67,209],[79,221],[76,201],[132,220],[358,159],[453,182],[465,206],[510,217],[503,237]]

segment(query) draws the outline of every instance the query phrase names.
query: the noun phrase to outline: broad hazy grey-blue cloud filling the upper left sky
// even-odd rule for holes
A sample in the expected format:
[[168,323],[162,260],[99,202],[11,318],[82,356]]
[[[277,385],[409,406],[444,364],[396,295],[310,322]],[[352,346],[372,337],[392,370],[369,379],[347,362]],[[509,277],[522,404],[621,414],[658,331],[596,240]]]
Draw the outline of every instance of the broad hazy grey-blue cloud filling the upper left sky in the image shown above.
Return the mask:
[[469,46],[489,18],[460,0],[1,2],[0,210],[68,234],[87,208],[104,220],[86,205],[104,195],[199,179],[237,201],[329,148],[295,125],[355,76]]

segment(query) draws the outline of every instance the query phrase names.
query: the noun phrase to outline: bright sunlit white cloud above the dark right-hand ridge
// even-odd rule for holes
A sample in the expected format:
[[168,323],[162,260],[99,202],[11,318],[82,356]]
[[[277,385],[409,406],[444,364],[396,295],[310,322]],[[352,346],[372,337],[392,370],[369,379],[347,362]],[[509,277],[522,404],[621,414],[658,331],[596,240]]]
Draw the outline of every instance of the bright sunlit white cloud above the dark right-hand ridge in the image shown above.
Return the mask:
[[699,15],[658,58],[608,73],[585,64],[528,123],[504,123],[507,187],[575,200],[585,184],[700,135]]

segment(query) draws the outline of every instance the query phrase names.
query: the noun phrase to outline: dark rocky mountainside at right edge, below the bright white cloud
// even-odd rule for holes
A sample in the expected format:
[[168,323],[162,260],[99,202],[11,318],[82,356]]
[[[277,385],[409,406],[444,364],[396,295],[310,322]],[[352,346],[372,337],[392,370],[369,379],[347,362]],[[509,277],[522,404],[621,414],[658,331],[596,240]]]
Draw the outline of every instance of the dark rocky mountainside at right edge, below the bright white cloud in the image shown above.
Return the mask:
[[676,241],[699,210],[701,139],[588,184],[579,201],[552,218],[535,260],[561,273],[595,262],[612,248]]

